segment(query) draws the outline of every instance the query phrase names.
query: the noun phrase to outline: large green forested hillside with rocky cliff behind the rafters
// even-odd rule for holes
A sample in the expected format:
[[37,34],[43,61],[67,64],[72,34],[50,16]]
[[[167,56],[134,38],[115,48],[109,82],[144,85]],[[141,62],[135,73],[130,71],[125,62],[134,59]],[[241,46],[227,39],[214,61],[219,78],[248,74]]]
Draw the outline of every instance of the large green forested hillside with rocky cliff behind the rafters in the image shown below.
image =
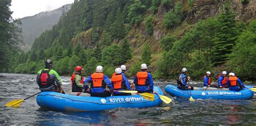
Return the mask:
[[[145,62],[156,79],[188,68],[193,79],[224,69],[256,80],[255,1],[80,0],[58,24],[19,55],[16,73],[36,73],[45,59],[66,75],[104,66],[111,75],[126,64],[130,76]],[[248,49],[247,49],[248,48]]]

